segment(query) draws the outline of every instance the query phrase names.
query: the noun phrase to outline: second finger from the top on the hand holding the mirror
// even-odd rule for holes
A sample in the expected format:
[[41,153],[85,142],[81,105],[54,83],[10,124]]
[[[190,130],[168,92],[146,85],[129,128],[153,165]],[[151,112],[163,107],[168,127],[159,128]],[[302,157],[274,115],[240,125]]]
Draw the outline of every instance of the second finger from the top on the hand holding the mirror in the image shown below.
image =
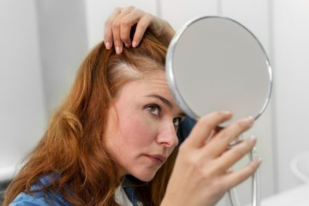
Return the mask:
[[225,152],[227,146],[229,146],[233,139],[236,139],[236,137],[240,136],[244,133],[244,131],[253,126],[253,122],[253,117],[247,117],[240,119],[227,128],[220,130],[216,137],[211,139],[209,144],[207,144],[205,153],[207,153],[207,155],[211,155],[212,157],[219,157],[223,152]]

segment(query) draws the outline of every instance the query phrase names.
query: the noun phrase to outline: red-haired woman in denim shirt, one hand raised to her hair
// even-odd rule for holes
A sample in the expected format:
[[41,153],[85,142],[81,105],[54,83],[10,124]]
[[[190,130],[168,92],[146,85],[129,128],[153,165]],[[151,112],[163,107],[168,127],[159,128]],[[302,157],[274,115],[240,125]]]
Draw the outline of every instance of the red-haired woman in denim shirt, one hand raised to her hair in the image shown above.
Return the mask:
[[176,149],[184,114],[164,72],[173,35],[166,21],[141,10],[113,12],[104,43],[82,63],[4,205],[214,205],[255,172],[260,159],[227,172],[255,137],[226,151],[253,117],[217,132],[230,112],[201,117]]

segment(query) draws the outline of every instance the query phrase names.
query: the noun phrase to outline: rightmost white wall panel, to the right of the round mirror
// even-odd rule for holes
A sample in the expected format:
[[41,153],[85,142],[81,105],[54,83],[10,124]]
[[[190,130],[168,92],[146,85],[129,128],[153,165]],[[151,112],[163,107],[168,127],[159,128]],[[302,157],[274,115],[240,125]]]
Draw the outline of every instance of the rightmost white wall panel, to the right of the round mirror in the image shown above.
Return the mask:
[[[298,185],[289,168],[309,150],[309,1],[273,1],[275,133],[279,191]],[[309,164],[309,161],[308,161]]]

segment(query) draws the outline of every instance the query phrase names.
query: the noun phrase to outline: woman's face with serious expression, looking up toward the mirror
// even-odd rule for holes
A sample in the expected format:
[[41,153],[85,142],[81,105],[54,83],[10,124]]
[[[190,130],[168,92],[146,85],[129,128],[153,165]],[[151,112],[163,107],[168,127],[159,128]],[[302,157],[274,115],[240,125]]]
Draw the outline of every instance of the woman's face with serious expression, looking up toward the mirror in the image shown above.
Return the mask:
[[[176,105],[164,71],[128,82],[110,108],[106,148],[122,174],[150,181],[178,144],[176,128],[184,115]],[[118,117],[118,121],[117,121]]]

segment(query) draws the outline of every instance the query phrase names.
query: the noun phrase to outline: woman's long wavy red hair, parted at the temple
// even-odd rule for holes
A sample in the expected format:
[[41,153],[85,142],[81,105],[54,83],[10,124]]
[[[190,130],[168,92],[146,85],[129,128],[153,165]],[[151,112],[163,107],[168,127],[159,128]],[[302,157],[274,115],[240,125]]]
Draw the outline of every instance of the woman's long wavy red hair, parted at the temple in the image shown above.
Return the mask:
[[[10,183],[4,205],[21,192],[32,194],[32,185],[46,175],[52,176],[52,183],[40,192],[59,191],[72,205],[117,205],[115,190],[123,177],[104,146],[108,109],[126,82],[142,78],[150,70],[164,70],[167,47],[163,38],[149,31],[137,48],[124,48],[119,55],[114,49],[107,50],[104,43],[95,46],[78,69],[69,95],[55,111],[43,138]],[[139,188],[147,204],[161,203],[176,152],[152,181]]]

